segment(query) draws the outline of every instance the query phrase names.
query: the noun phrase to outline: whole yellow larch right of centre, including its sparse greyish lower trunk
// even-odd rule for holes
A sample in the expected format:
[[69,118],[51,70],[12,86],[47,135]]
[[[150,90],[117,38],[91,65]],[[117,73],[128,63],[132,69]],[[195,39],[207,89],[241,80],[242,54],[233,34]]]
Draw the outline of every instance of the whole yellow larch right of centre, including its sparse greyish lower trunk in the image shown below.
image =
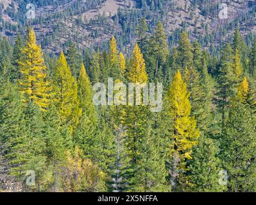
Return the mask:
[[173,83],[169,86],[164,100],[164,112],[169,119],[169,162],[173,163],[171,184],[173,189],[184,183],[183,174],[187,171],[186,161],[191,159],[192,147],[196,145],[200,135],[196,120],[191,117],[191,102],[189,101],[187,85],[180,72],[176,72]]

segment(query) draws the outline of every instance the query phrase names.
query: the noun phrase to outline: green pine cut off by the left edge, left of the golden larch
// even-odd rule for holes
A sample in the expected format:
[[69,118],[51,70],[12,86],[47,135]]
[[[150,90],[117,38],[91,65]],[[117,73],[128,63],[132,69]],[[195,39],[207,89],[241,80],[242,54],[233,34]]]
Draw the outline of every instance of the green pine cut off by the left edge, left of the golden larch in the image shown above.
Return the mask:
[[23,167],[28,158],[26,146],[26,127],[24,106],[18,89],[1,78],[0,87],[0,136],[3,142],[5,158],[12,166],[14,176],[24,176]]

